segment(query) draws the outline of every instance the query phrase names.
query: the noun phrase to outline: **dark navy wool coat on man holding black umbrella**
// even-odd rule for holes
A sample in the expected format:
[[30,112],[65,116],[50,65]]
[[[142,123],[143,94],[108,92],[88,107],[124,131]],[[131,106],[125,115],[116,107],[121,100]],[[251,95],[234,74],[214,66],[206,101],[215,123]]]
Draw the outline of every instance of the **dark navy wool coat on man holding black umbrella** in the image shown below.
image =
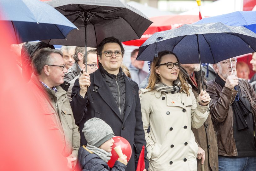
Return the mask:
[[[82,133],[84,123],[93,117],[101,118],[110,125],[116,136],[121,136],[129,141],[131,144],[132,155],[126,170],[136,170],[142,146],[145,145],[146,147],[137,83],[125,76],[125,115],[124,120],[122,121],[114,97],[105,82],[100,69],[90,74],[90,82],[91,84],[87,90],[85,98],[82,98],[79,95],[80,87],[78,79],[75,81],[72,89],[71,107],[76,124],[79,124],[81,145],[86,145],[86,140]],[[94,91],[94,88],[98,89]],[[146,159],[146,156],[147,151],[145,148],[145,168],[148,169],[148,160]]]

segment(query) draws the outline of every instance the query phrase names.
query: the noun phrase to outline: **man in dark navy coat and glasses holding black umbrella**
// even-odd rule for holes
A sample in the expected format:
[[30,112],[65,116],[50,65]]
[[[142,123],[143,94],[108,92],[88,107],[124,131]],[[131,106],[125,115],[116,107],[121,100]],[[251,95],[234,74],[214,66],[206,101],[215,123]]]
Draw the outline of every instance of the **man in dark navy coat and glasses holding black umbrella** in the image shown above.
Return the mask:
[[[80,127],[83,128],[90,118],[98,117],[110,125],[116,136],[128,140],[132,155],[126,170],[133,171],[146,140],[138,85],[120,67],[124,52],[118,39],[108,37],[102,40],[97,47],[99,69],[90,75],[84,71],[75,81],[71,107]],[[83,134],[81,143],[86,145]],[[145,150],[145,168],[148,169],[146,155]]]

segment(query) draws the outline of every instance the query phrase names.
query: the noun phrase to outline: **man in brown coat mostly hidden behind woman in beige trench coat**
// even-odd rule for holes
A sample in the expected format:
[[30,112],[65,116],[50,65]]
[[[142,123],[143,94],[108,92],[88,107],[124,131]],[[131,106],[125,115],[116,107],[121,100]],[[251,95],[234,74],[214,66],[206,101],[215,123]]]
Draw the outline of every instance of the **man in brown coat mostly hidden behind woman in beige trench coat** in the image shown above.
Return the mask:
[[[197,98],[202,89],[201,72],[203,77],[205,72],[200,71],[200,64],[182,64],[181,66],[180,71],[183,73],[184,79],[192,86],[192,91],[195,98]],[[205,82],[204,88],[206,88]],[[200,128],[191,129],[198,144],[197,170],[201,171],[201,164],[203,164],[205,171],[218,171],[217,139],[212,126],[211,116],[207,117],[207,120]]]

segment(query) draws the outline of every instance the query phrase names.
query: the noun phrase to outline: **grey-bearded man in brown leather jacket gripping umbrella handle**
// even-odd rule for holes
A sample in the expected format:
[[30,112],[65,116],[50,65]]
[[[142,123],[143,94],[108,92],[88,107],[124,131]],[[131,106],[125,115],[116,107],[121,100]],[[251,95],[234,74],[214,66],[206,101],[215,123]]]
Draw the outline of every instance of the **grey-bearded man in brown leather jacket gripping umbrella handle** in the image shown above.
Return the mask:
[[256,168],[256,97],[247,80],[232,75],[236,58],[213,65],[216,78],[207,83],[210,111],[218,140],[220,171],[253,171]]

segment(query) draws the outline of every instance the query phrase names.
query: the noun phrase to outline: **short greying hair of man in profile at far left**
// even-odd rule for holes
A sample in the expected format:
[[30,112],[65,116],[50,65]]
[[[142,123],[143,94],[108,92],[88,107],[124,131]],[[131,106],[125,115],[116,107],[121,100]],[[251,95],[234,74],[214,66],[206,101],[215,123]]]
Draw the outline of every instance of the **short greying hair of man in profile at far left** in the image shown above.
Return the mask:
[[51,54],[60,54],[63,57],[63,54],[60,50],[51,49],[51,48],[41,48],[32,58],[32,66],[34,73],[38,76],[41,75],[41,71],[45,65],[52,64],[53,60]]

